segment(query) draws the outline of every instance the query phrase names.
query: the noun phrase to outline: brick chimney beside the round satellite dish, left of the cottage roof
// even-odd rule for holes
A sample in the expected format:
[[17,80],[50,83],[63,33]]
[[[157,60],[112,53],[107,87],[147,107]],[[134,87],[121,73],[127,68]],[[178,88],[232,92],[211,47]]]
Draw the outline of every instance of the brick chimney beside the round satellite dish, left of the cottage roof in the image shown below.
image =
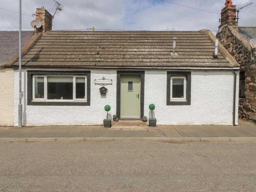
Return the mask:
[[36,20],[39,20],[42,23],[42,27],[36,29],[37,32],[43,32],[51,30],[52,27],[52,15],[44,8],[36,9]]

